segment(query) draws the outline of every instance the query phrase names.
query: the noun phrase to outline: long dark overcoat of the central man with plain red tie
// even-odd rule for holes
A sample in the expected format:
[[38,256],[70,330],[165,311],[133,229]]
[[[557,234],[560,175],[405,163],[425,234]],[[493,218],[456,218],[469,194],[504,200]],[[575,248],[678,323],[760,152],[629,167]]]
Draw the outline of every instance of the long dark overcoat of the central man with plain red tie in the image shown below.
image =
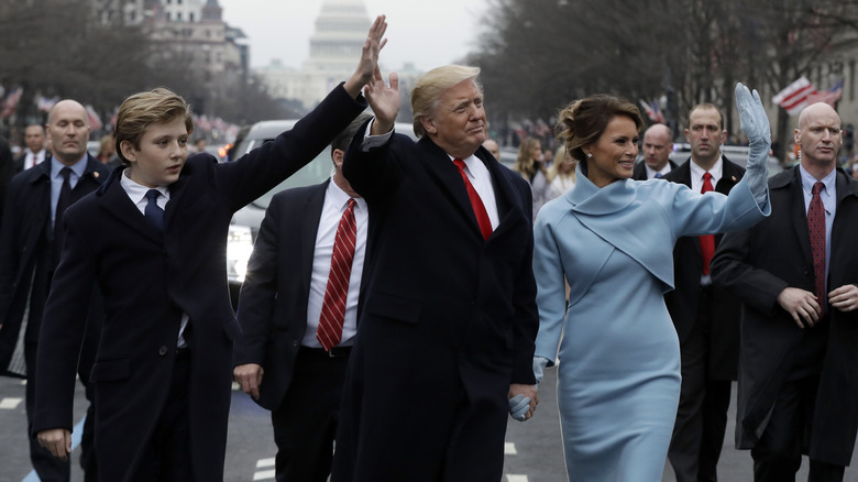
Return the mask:
[[[535,383],[539,321],[530,187],[485,149],[477,150],[492,175],[501,219],[486,241],[459,171],[438,145],[394,134],[364,153],[363,133],[359,129],[349,147],[343,174],[366,199],[376,224],[346,379],[351,394],[343,398],[354,419],[343,416],[340,435],[359,434],[354,446],[372,440],[375,448],[385,447],[387,462],[361,453],[364,469],[389,462],[414,473],[419,461],[400,457],[403,441],[385,437],[403,427],[425,434],[420,427],[433,424],[436,413],[457,413],[462,390],[486,417],[499,414],[503,429],[509,384]],[[340,435],[337,457],[352,443]],[[446,442],[419,438],[409,443],[435,452]],[[499,441],[486,434],[485,443],[503,443],[503,431]]]

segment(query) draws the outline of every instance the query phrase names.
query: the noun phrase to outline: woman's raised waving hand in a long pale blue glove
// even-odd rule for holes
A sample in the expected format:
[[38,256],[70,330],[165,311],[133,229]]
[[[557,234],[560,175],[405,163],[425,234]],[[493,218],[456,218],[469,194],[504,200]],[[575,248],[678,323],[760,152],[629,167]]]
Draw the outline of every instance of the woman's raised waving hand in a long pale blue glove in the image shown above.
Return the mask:
[[771,128],[760,95],[754,95],[741,83],[736,84],[736,108],[739,111],[741,131],[748,136],[750,152],[745,176],[757,202],[766,201],[769,180],[769,150],[771,149]]

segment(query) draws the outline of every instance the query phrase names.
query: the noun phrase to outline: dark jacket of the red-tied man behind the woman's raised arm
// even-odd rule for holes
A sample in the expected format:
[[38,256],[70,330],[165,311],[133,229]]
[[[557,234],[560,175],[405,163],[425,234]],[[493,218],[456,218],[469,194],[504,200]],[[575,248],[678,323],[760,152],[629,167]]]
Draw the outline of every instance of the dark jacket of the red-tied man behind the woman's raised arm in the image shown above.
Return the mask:
[[[715,190],[729,194],[745,168],[722,157],[723,171]],[[684,184],[691,187],[691,160],[672,169],[664,179]],[[715,247],[718,247],[722,234],[715,234]],[[697,315],[697,297],[700,295],[700,277],[703,271],[703,258],[700,249],[700,238],[683,237],[673,248],[673,273],[676,288],[664,295],[664,303],[673,319],[680,343],[684,342]],[[736,380],[739,364],[739,300],[718,287],[713,287],[713,319],[717,320],[711,329],[710,376],[714,380]]]

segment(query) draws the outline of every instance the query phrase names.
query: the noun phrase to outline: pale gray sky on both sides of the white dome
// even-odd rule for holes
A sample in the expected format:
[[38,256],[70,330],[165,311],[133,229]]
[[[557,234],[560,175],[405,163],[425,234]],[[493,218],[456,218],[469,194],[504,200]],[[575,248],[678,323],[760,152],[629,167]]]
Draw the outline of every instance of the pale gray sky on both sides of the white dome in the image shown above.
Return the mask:
[[[309,39],[322,0],[220,0],[223,20],[241,28],[251,45],[251,66],[273,58],[299,68],[309,56]],[[428,70],[450,64],[475,50],[483,32],[481,20],[487,0],[364,0],[371,18],[387,15],[388,44],[382,51],[383,68],[398,69],[405,62]]]

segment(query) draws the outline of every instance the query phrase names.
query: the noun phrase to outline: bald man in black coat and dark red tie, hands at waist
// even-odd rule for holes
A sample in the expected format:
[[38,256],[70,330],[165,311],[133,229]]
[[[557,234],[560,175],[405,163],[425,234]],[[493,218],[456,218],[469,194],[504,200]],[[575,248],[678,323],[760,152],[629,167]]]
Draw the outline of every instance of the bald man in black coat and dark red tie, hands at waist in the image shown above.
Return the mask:
[[714,281],[741,299],[736,445],[754,480],[842,481],[858,432],[858,182],[837,168],[840,118],[799,116],[801,163],[769,179],[771,217],[724,235]]

